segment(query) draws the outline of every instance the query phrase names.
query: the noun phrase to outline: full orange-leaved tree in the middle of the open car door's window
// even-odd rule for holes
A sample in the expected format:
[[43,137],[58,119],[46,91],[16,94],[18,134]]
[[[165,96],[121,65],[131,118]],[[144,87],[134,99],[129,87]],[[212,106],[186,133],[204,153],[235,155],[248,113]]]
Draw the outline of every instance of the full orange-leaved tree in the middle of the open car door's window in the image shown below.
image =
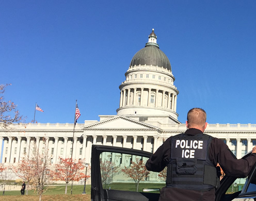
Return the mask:
[[146,169],[145,162],[140,159],[136,159],[135,162],[132,162],[130,167],[124,167],[122,172],[126,174],[127,177],[132,178],[136,183],[136,191],[139,189],[139,182],[145,180],[145,178],[150,174]]

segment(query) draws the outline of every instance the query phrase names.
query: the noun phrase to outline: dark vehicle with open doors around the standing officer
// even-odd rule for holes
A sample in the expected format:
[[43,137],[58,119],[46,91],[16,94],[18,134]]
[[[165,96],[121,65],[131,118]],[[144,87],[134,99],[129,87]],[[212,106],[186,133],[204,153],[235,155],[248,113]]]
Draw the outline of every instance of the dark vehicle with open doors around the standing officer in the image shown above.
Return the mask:
[[[157,201],[160,189],[165,186],[163,174],[147,172],[142,175],[151,155],[138,149],[92,145],[91,200]],[[127,175],[127,171],[132,172],[132,175]],[[139,174],[143,178],[138,182],[136,178]],[[256,200],[256,165],[245,179],[224,176],[220,188],[216,190],[215,200]]]

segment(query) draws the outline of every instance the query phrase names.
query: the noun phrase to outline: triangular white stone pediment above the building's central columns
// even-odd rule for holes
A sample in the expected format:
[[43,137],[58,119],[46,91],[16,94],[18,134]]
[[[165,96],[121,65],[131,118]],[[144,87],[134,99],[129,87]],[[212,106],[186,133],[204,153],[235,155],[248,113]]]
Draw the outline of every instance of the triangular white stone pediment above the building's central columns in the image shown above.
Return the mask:
[[82,129],[157,129],[154,126],[126,118],[124,116],[115,116],[104,121],[83,127]]

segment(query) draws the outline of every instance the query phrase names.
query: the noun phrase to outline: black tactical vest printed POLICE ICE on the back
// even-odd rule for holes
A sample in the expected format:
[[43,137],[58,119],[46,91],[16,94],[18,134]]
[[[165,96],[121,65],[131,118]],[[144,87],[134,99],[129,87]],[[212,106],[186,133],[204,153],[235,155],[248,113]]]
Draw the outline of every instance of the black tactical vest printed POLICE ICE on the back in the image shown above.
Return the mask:
[[203,133],[172,137],[171,158],[167,165],[166,186],[207,191],[219,186],[216,167],[209,159],[212,137]]

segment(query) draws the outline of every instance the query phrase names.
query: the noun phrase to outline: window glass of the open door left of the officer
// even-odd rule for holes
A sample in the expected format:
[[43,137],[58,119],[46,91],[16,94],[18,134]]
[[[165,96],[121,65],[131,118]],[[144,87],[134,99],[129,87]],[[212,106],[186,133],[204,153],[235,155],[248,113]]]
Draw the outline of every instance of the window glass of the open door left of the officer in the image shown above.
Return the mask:
[[147,157],[103,152],[100,155],[103,189],[159,193],[165,186],[166,170],[147,171]]

